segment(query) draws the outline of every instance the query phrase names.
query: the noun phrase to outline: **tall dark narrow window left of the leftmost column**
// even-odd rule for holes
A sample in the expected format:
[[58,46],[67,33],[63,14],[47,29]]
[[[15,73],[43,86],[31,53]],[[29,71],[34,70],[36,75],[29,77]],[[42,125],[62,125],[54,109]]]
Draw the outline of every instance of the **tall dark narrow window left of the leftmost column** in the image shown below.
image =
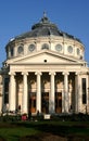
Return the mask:
[[4,103],[9,103],[9,78],[4,79]]

